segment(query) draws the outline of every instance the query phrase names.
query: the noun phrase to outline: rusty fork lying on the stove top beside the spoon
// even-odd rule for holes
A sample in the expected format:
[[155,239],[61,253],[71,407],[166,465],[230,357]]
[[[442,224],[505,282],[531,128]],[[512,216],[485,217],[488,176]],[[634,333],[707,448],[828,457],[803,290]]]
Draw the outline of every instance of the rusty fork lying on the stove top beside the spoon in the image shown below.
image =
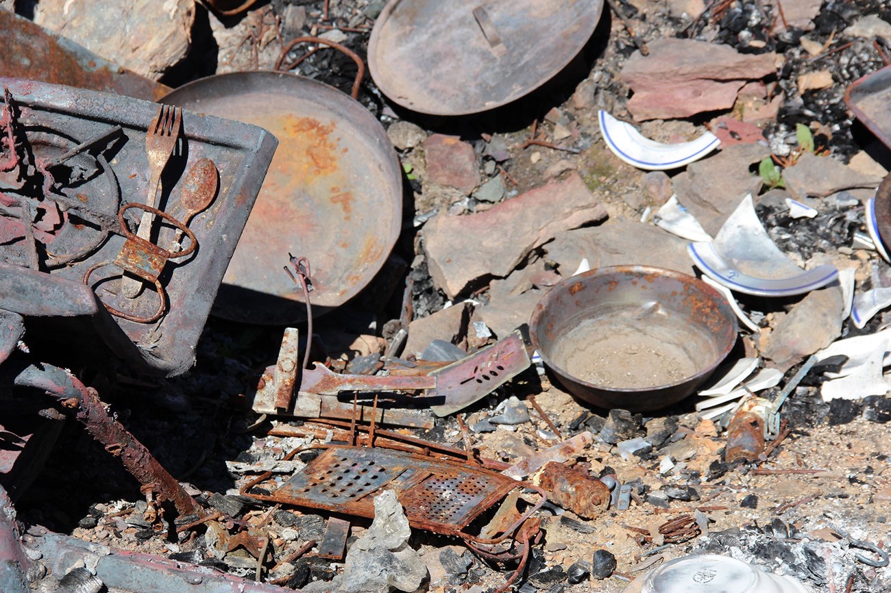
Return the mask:
[[[161,174],[176,147],[176,139],[179,138],[182,121],[183,110],[170,105],[161,105],[158,115],[151,120],[145,134],[145,153],[149,158],[149,195],[145,203],[150,207],[155,207],[158,200]],[[143,217],[136,230],[137,237],[150,240],[152,220],[151,212],[143,211]],[[124,296],[127,298],[134,298],[142,288],[142,281],[129,274],[125,274],[121,282]]]

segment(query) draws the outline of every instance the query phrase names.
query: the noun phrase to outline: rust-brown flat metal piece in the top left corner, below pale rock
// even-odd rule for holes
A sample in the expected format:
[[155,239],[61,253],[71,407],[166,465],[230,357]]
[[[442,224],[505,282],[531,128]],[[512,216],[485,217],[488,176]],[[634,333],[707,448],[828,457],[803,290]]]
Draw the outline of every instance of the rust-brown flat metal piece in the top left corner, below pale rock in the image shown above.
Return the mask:
[[30,78],[156,101],[170,92],[135,72],[107,61],[82,45],[0,10],[0,77]]

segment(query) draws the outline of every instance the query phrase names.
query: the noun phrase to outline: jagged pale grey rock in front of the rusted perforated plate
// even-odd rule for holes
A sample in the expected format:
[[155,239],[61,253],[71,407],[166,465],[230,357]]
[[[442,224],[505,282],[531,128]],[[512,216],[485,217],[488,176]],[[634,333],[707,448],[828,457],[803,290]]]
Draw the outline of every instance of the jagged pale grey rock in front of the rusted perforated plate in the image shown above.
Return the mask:
[[409,548],[411,535],[396,492],[383,491],[374,497],[374,521],[347,551],[340,588],[347,593],[418,589],[427,576],[427,565]]

